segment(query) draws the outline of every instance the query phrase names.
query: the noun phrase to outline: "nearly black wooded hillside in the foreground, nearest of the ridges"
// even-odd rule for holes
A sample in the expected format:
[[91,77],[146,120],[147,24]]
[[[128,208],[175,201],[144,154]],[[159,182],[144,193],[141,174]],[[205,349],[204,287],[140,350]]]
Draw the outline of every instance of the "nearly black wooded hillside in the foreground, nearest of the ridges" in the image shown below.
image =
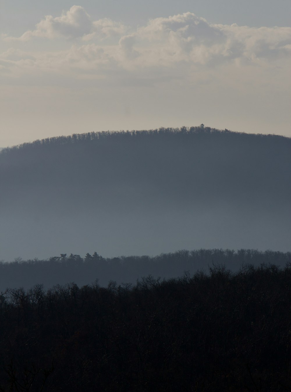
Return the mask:
[[0,390],[291,390],[291,269],[0,297]]

